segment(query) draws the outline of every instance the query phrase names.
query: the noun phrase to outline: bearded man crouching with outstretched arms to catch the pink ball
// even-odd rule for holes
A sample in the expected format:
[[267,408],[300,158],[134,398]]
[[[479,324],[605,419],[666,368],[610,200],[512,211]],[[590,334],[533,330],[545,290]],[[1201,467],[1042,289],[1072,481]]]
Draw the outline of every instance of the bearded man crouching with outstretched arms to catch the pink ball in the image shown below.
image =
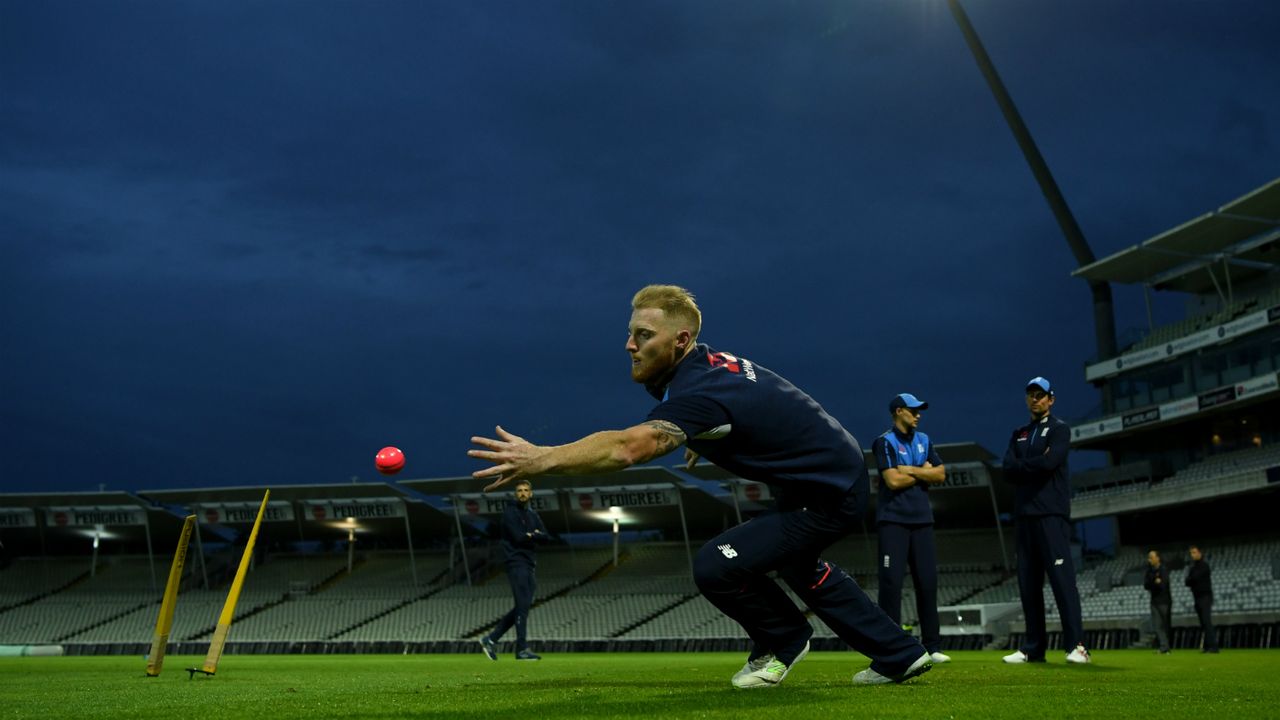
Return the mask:
[[782,377],[698,343],[701,313],[675,286],[648,286],[631,301],[631,379],[658,400],[649,419],[561,446],[535,446],[502,427],[472,437],[472,457],[493,462],[485,488],[552,474],[598,474],[649,462],[681,445],[736,475],[767,483],[776,509],[726,530],[694,560],[694,582],[751,638],[736,688],[777,687],[809,650],[813,628],[768,573],[872,665],[855,684],[900,683],[931,667],[929,655],[876,607],[852,578],[819,553],[858,528],[869,480],[863,452],[835,418]]

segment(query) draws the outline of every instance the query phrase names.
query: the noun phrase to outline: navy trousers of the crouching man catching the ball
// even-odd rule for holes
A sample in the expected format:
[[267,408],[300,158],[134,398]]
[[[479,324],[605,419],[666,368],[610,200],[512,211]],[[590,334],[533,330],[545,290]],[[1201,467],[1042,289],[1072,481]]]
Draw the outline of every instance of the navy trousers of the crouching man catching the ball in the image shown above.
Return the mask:
[[[861,484],[865,488],[865,480]],[[773,653],[790,665],[813,635],[778,577],[882,675],[900,675],[924,647],[884,615],[844,570],[819,553],[858,527],[865,493],[810,491],[778,497],[774,510],[731,528],[694,557],[698,589],[751,638],[751,657]]]

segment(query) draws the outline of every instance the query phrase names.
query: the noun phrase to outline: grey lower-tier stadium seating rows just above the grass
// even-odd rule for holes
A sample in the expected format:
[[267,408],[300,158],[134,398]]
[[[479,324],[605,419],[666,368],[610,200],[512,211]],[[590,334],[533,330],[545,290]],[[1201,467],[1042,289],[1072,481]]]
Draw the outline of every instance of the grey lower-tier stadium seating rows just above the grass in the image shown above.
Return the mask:
[[[1257,455],[1251,456],[1251,461]],[[1224,460],[1225,461],[1225,460]],[[988,559],[993,555],[987,537]],[[964,544],[960,542],[957,544]],[[978,547],[978,541],[973,541]],[[867,562],[864,538],[845,541],[831,557],[874,600],[877,577]],[[1193,623],[1190,594],[1183,588],[1185,548],[1166,551],[1174,587],[1175,623]],[[977,555],[963,551],[961,556]],[[1280,541],[1251,541],[1207,548],[1213,566],[1215,612],[1220,616],[1268,616],[1280,611],[1276,557]],[[613,566],[612,547],[549,547],[539,553],[538,593],[530,635],[539,641],[682,641],[742,639],[741,628],[701,598],[690,577],[684,543],[641,543],[623,548]],[[861,561],[859,564],[859,561]],[[268,557],[248,575],[232,639],[241,642],[462,642],[475,638],[511,607],[500,566],[477,570],[474,584],[453,583],[444,553],[419,553],[419,583],[407,556],[366,553],[347,573],[346,556]],[[1146,548],[1126,547],[1115,557],[1084,564],[1076,578],[1085,623],[1148,621],[1142,588]],[[156,568],[157,584],[163,569]],[[5,643],[145,643],[159,609],[159,589],[146,559],[104,560],[90,577],[83,560],[12,562],[0,575],[12,598],[0,610],[0,644]],[[941,606],[1018,602],[1015,578],[997,565],[954,562],[940,566]],[[172,638],[207,641],[227,598],[229,578],[219,587],[196,587],[201,575],[188,568]],[[790,592],[790,591],[788,591]],[[1056,602],[1046,587],[1051,620]],[[792,596],[797,607],[804,603]],[[915,593],[905,582],[902,620],[916,624]],[[817,619],[815,637],[833,634]]]

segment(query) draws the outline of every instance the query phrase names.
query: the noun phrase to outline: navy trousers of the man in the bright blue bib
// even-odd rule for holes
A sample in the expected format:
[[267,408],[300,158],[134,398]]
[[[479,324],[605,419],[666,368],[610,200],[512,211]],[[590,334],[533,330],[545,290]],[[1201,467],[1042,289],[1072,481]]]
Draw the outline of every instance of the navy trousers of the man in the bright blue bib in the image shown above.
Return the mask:
[[879,537],[879,606],[897,624],[902,623],[902,579],[911,569],[915,584],[915,611],[920,619],[920,642],[924,650],[942,650],[938,623],[938,555],[933,543],[933,525],[901,525],[881,523]]

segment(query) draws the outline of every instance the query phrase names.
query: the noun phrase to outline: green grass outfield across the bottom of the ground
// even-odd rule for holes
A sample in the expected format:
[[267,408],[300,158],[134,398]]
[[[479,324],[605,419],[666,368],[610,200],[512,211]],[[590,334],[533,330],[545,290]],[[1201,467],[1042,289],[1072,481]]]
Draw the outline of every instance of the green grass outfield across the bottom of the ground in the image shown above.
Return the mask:
[[777,688],[735,691],[736,653],[228,655],[216,678],[188,680],[202,657],[0,657],[0,717],[1280,717],[1280,651],[1221,655],[1060,653],[1006,666],[956,652],[902,685],[852,687],[852,652],[814,652]]

